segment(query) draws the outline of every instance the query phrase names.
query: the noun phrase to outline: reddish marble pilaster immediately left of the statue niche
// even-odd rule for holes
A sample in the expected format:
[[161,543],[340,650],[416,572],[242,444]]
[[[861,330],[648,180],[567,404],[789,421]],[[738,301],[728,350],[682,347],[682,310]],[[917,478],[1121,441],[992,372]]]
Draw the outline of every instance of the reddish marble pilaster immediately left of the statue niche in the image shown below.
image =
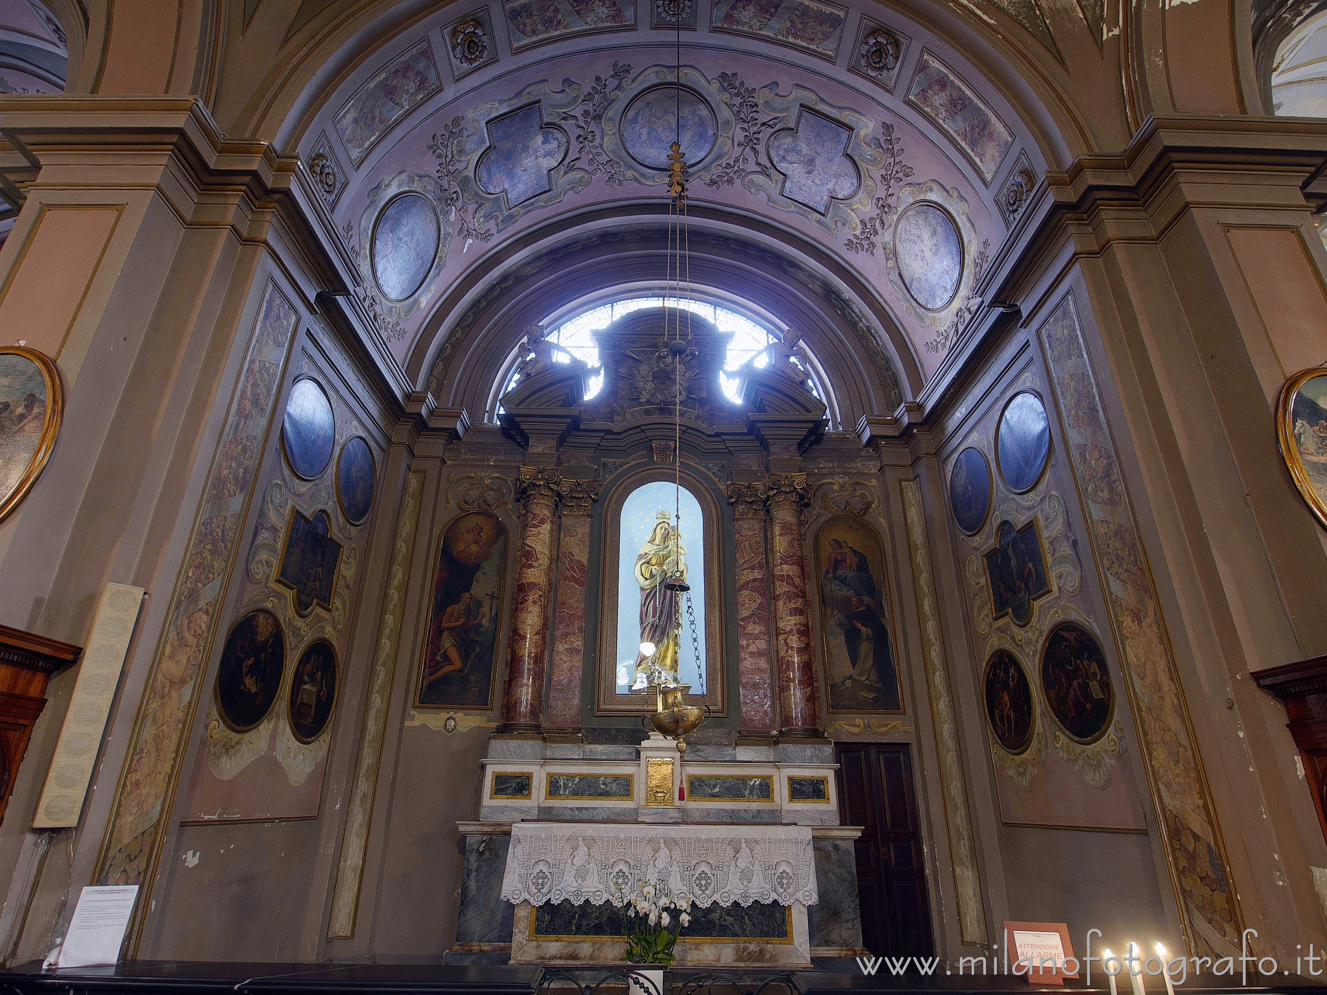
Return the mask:
[[563,479],[563,528],[557,540],[557,601],[549,657],[544,726],[575,731],[580,726],[581,671],[585,662],[585,590],[589,520],[601,484]]

